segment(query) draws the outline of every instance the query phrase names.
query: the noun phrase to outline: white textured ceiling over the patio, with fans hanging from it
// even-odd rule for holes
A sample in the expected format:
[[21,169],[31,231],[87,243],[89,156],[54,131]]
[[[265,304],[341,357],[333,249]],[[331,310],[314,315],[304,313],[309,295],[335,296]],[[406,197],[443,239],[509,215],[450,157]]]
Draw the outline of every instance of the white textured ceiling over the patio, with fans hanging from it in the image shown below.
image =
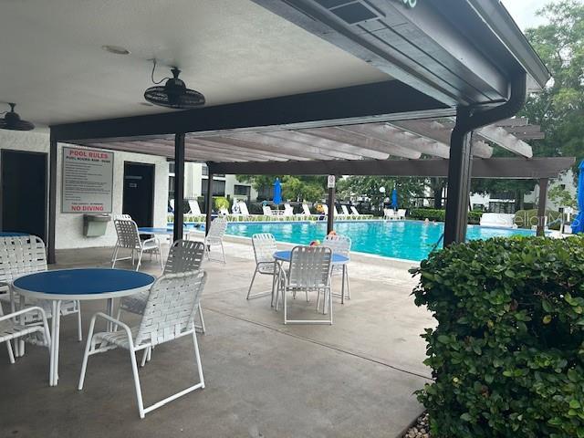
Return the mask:
[[39,125],[161,112],[152,57],[207,105],[389,78],[250,0],[0,0],[0,102]]

